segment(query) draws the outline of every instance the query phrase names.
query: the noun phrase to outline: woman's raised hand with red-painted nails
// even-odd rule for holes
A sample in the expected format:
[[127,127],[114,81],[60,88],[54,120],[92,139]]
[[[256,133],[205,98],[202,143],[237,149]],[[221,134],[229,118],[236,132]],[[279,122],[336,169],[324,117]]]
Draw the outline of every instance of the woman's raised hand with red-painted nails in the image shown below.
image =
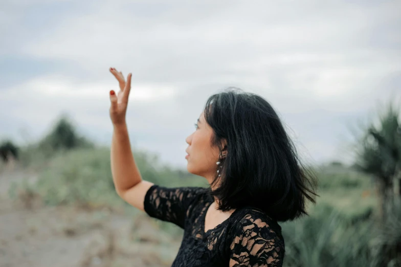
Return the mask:
[[110,119],[112,119],[113,125],[125,124],[125,115],[127,112],[128,96],[131,90],[131,76],[129,73],[127,81],[121,72],[118,72],[114,68],[110,68],[109,71],[116,77],[120,85],[120,91],[117,93],[114,90],[110,91]]

